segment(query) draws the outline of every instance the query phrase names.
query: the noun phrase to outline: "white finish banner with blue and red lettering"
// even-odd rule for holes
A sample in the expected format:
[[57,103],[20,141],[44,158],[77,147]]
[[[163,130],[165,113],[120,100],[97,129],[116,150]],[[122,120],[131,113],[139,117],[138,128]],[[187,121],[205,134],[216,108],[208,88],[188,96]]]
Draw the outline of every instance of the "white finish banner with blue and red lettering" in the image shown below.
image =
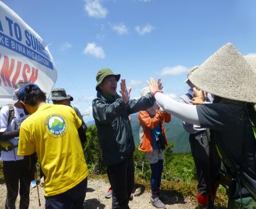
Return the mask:
[[0,1],[0,102],[11,99],[19,82],[36,83],[49,96],[57,79],[43,39]]

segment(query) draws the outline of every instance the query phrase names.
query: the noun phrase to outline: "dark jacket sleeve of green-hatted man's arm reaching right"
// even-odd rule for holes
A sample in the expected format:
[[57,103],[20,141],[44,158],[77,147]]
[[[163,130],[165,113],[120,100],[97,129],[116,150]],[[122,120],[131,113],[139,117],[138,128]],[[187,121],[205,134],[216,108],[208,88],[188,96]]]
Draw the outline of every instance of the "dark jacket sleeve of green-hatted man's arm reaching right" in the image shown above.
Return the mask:
[[138,111],[147,110],[149,107],[152,107],[154,105],[154,102],[155,98],[152,97],[150,93],[139,99],[131,99],[127,105],[128,114],[130,115]]

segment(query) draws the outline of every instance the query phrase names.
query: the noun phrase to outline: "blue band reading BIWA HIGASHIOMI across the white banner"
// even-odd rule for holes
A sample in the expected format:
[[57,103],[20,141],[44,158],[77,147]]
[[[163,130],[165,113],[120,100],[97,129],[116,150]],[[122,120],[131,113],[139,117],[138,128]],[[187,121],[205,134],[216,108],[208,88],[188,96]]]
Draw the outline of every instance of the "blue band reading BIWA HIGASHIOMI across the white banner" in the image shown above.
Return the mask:
[[19,43],[18,41],[15,41],[13,38],[10,38],[7,35],[2,33],[0,33],[0,46],[3,46],[3,47],[6,47],[7,49],[15,51],[53,70],[53,63],[49,61],[49,59],[46,59],[42,55],[38,54],[36,51],[31,50],[29,47],[23,45],[22,43]]

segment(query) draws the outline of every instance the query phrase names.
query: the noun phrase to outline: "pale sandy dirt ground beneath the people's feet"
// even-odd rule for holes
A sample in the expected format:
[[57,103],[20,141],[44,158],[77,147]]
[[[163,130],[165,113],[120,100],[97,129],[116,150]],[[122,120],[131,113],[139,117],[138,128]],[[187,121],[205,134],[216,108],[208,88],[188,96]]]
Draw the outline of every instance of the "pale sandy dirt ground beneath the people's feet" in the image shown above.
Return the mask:
[[[90,179],[88,181],[87,193],[85,198],[86,209],[111,209],[111,198],[106,199],[104,194],[109,188],[109,184],[101,179]],[[38,206],[37,188],[31,188],[30,190],[30,207],[31,209],[45,208],[44,191],[42,187],[39,187],[41,207]],[[0,209],[5,208],[6,198],[6,186],[0,184]],[[141,188],[137,188],[134,193],[134,198],[130,201],[129,206],[131,209],[154,209],[149,203],[150,193],[143,191]],[[16,207],[18,208],[19,197],[17,198]],[[189,200],[183,201],[183,203],[170,203],[166,205],[167,209],[194,209],[195,204],[189,202]]]

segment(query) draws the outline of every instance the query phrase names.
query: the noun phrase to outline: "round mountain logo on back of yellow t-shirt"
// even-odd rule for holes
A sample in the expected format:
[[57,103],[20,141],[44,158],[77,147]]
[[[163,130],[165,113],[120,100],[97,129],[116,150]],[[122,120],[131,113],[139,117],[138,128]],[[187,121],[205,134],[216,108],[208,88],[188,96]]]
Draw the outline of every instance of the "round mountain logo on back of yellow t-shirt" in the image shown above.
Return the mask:
[[45,119],[45,130],[47,134],[55,138],[64,136],[68,127],[67,119],[63,115],[51,114]]

